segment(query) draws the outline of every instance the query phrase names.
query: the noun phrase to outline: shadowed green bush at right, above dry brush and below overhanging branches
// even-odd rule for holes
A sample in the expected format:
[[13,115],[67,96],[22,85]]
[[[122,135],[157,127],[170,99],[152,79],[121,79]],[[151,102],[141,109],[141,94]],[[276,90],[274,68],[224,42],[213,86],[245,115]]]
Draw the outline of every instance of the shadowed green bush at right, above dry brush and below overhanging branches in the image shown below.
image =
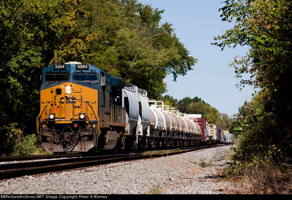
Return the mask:
[[237,176],[241,176],[240,169],[245,167],[252,172],[258,170],[258,166],[267,171],[277,166],[283,172],[291,163],[291,146],[281,139],[281,129],[275,129],[278,123],[275,115],[263,112],[263,96],[258,94],[252,101],[245,102],[239,108],[239,113],[233,116],[232,127],[238,137],[233,158],[241,161],[234,168]]

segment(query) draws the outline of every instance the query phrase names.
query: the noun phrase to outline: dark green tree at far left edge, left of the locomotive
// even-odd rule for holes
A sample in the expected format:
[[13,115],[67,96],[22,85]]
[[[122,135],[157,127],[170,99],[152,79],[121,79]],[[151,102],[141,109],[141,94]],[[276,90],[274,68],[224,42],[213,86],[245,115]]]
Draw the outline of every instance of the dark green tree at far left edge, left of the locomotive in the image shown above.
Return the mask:
[[[52,56],[49,23],[57,3],[0,2],[0,127],[33,123],[39,110],[39,77]],[[1,129],[0,128],[0,129]]]

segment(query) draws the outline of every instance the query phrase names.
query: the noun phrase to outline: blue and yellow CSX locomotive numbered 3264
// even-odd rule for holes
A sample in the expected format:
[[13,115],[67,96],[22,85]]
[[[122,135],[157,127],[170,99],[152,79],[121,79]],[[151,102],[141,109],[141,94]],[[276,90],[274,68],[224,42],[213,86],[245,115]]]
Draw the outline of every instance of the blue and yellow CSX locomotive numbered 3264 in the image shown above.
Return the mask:
[[122,148],[126,133],[121,101],[124,80],[79,62],[51,65],[42,77],[37,132],[44,150]]

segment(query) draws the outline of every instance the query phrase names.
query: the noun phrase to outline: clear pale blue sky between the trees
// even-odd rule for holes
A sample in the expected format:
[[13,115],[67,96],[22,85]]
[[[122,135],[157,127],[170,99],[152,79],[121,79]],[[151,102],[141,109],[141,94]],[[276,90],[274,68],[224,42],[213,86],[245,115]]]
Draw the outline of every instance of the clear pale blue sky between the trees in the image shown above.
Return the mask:
[[[178,76],[177,82],[171,75],[165,94],[175,99],[199,97],[220,113],[229,116],[238,112],[244,101],[251,99],[253,87],[245,86],[241,91],[236,88],[239,79],[235,78],[234,68],[228,64],[237,55],[244,56],[248,47],[221,48],[211,45],[213,37],[222,35],[234,24],[221,21],[219,8],[225,6],[221,0],[139,0],[151,4],[153,8],[165,10],[161,23],[173,24],[180,42],[184,43],[190,56],[198,59],[193,70],[185,76]],[[224,31],[222,31],[224,30]],[[165,95],[164,94],[164,95]]]

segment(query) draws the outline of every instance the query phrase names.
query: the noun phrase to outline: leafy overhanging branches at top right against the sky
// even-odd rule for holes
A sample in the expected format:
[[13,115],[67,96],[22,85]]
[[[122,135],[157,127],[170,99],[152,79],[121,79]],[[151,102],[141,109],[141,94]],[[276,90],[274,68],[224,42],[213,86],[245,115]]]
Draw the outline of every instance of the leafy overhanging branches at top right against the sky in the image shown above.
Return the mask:
[[[223,21],[235,19],[233,29],[214,39],[222,48],[231,44],[248,45],[246,56],[236,56],[230,64],[235,68],[237,78],[250,73],[250,79],[240,80],[239,86],[254,85],[270,92],[280,89],[279,78],[291,75],[291,1],[225,1],[219,9]],[[288,67],[288,68],[287,68]],[[282,79],[281,79],[282,81]],[[287,81],[287,80],[285,80]],[[284,86],[284,85],[283,85]]]

